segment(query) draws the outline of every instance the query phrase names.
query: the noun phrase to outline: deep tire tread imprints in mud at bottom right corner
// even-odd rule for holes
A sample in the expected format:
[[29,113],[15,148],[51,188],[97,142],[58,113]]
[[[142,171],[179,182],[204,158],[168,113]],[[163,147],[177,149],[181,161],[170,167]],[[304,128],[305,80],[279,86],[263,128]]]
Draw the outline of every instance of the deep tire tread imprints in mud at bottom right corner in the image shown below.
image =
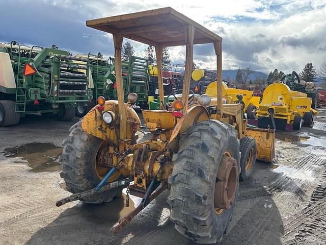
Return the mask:
[[[287,244],[307,244],[311,238],[317,243],[326,243],[326,171],[322,174],[317,188],[313,191],[310,203],[303,210],[303,214],[286,224],[285,236],[289,237]],[[294,237],[293,235],[294,234]],[[291,237],[292,236],[292,237]],[[318,243],[323,241],[323,243]]]

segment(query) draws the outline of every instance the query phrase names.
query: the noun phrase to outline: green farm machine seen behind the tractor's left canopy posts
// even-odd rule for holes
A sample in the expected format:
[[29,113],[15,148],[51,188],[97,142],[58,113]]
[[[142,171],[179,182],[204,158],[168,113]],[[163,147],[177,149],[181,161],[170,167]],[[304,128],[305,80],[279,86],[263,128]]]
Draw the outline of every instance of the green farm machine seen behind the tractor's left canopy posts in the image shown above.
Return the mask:
[[[90,62],[90,88],[94,97],[104,96],[106,100],[117,99],[117,86],[115,77],[114,59],[108,60],[97,58],[95,55],[78,54],[76,57],[87,58]],[[122,80],[124,86],[124,97],[127,100],[129,93],[137,93],[137,106],[147,107],[147,96],[149,89],[149,66],[148,60],[131,56],[129,61],[122,61]],[[96,100],[90,103],[79,103],[76,107],[76,115],[84,116],[95,106]]]

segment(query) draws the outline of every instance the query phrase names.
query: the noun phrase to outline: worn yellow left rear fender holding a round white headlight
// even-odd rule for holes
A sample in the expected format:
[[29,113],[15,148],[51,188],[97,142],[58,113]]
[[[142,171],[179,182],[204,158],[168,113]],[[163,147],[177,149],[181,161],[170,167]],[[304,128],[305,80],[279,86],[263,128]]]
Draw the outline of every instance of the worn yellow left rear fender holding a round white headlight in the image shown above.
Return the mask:
[[[107,125],[102,120],[101,114],[102,111],[99,111],[98,105],[93,107],[84,117],[82,121],[83,130],[93,135],[97,138],[103,140],[113,141],[115,144],[118,144],[119,140],[119,107],[118,101],[105,101],[104,111],[111,111],[116,115],[115,120]],[[126,136],[127,139],[131,139],[131,137],[139,130],[141,125],[141,120],[139,119],[137,113],[128,105],[125,104],[126,109]]]

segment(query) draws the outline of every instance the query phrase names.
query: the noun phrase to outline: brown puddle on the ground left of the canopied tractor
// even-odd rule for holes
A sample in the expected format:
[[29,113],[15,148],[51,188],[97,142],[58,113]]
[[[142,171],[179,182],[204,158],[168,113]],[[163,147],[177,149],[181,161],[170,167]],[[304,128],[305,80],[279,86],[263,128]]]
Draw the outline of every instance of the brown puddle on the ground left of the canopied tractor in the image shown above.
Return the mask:
[[29,143],[6,148],[5,157],[21,157],[28,162],[32,172],[60,171],[59,156],[62,148],[51,143]]

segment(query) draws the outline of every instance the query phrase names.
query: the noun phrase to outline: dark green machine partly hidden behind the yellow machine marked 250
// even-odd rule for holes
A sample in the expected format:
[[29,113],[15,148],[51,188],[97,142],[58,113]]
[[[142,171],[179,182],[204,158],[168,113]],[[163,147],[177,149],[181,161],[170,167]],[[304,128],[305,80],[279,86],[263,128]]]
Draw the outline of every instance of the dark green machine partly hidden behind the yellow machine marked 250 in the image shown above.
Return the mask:
[[316,109],[319,103],[319,94],[313,82],[301,80],[294,70],[291,74],[284,75],[280,81],[289,86],[291,90],[306,93],[311,98],[311,108]]

